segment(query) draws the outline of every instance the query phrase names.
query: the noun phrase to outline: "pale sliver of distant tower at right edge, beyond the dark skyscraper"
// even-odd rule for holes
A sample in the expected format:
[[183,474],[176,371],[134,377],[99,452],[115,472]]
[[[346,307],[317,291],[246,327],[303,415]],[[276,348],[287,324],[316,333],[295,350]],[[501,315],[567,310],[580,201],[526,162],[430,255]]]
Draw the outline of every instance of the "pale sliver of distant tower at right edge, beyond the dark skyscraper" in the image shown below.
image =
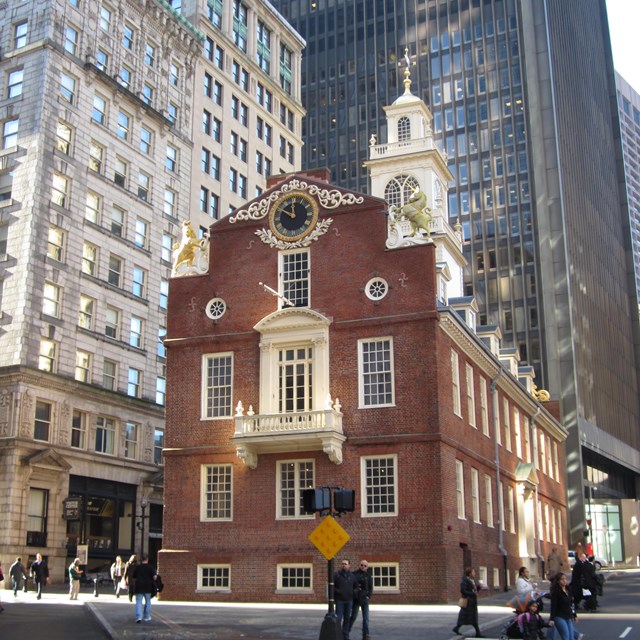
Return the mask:
[[636,291],[640,295],[640,94],[616,73],[624,173],[631,219]]

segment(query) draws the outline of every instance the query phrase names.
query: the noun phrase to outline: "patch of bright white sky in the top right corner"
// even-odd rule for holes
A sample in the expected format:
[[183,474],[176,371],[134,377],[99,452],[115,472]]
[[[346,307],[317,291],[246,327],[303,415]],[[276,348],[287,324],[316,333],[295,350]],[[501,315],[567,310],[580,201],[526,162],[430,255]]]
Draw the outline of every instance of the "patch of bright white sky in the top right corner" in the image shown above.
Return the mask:
[[640,93],[640,0],[607,0],[616,71]]

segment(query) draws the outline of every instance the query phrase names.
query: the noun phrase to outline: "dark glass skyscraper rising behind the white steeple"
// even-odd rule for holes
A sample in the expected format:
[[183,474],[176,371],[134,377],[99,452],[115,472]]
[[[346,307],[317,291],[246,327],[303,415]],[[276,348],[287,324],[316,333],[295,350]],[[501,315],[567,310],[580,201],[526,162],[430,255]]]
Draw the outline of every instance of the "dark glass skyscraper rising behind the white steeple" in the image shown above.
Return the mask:
[[589,512],[622,559],[609,543],[638,509],[638,322],[604,0],[277,6],[307,42],[303,167],[341,186],[367,188],[407,50],[454,176],[466,293],[561,401],[571,541]]

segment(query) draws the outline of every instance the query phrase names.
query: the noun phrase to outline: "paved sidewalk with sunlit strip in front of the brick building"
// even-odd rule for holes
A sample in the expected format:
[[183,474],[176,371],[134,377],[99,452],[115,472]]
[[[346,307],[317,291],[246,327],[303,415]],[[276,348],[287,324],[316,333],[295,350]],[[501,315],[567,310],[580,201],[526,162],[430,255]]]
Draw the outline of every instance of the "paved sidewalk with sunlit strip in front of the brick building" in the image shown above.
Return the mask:
[[[616,570],[607,572],[607,578],[616,573]],[[540,589],[548,590],[548,582],[540,583]],[[480,628],[487,638],[499,638],[512,615],[506,603],[514,595],[512,588],[480,598]],[[20,594],[19,599],[35,602],[35,593]],[[326,604],[167,602],[154,598],[152,622],[137,624],[134,604],[125,594],[116,598],[111,586],[106,584],[99,587],[97,597],[93,588],[83,586],[77,602],[69,601],[67,589],[62,585],[50,587],[40,603],[87,607],[112,640],[318,640],[327,613]],[[372,604],[372,637],[459,639],[460,636],[451,632],[457,613],[455,604]],[[360,622],[356,622],[352,640],[359,640],[359,625]],[[462,632],[472,637],[473,629],[463,627]]]

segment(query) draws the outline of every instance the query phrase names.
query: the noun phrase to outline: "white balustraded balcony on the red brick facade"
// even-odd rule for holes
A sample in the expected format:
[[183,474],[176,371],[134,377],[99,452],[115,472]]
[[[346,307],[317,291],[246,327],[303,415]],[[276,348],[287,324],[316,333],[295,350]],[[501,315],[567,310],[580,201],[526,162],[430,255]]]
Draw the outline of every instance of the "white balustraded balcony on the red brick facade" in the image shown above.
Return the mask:
[[252,469],[261,453],[324,451],[335,464],[342,463],[342,413],[339,401],[319,411],[253,413],[246,415],[238,403],[232,442],[238,457]]

